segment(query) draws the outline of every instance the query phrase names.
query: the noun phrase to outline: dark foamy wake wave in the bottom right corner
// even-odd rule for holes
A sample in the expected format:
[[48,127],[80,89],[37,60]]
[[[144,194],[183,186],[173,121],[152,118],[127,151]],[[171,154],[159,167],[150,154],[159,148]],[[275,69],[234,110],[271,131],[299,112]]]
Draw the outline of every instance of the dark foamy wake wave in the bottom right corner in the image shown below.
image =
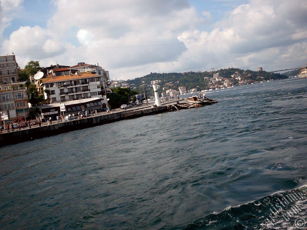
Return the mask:
[[306,229],[306,221],[307,184],[243,205],[227,207],[220,213],[212,213],[188,224],[184,230]]

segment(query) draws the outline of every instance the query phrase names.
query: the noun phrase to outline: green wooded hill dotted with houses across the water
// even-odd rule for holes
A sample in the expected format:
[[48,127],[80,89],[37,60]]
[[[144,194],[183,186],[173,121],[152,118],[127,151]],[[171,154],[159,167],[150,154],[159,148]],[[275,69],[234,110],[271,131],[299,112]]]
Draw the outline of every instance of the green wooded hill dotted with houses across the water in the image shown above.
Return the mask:
[[[251,70],[241,70],[238,68],[228,68],[220,69],[213,72],[185,72],[185,73],[150,73],[146,76],[135,78],[132,80],[127,80],[126,82],[130,85],[147,85],[148,94],[152,95],[153,92],[149,87],[150,81],[153,79],[161,80],[159,84],[159,92],[165,91],[165,89],[176,89],[178,90],[179,86],[185,86],[188,89],[196,88],[197,90],[206,90],[208,89],[208,80],[204,80],[205,77],[213,77],[215,73],[220,73],[220,76],[226,80],[230,80],[233,85],[237,85],[238,82],[231,77],[231,75],[237,73],[240,74],[243,79],[252,80],[252,81],[266,81],[270,79],[286,79],[288,76],[270,73],[266,71],[251,71]],[[145,83],[144,83],[145,82]],[[172,82],[172,83],[170,83]],[[163,88],[165,88],[163,90]]]

